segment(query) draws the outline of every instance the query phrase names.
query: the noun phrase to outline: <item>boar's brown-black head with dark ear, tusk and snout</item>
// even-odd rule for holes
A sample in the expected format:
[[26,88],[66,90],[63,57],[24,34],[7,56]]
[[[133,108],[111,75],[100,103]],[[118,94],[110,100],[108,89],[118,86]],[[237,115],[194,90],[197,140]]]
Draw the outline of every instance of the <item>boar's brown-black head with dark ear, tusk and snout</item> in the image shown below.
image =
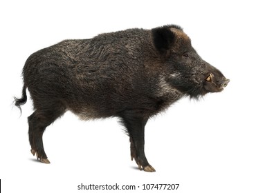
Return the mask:
[[228,85],[229,80],[217,68],[201,59],[179,26],[154,28],[152,34],[170,86],[198,98],[208,92],[221,92]]

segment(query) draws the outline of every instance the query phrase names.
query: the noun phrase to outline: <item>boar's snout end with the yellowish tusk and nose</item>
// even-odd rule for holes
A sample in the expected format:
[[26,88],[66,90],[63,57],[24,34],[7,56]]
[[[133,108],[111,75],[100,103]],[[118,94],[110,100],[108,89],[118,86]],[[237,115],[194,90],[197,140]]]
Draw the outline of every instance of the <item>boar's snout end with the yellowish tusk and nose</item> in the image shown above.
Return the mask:
[[221,92],[229,82],[229,79],[226,79],[223,76],[214,75],[210,72],[205,78],[204,88],[207,92]]

